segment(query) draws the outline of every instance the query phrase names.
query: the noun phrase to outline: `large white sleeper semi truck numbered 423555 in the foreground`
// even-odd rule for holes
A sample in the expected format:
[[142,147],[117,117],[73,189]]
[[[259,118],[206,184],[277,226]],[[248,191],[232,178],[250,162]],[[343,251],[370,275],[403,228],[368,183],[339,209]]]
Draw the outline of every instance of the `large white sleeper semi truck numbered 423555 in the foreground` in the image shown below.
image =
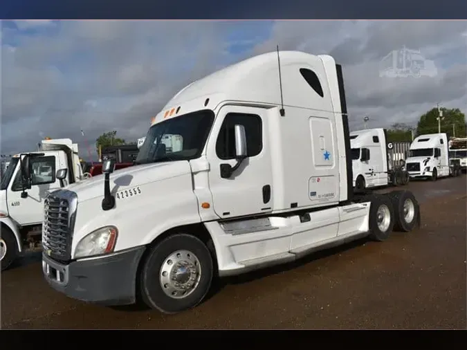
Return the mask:
[[[181,149],[167,151],[167,135]],[[138,296],[177,313],[216,277],[419,224],[409,191],[354,196],[342,71],[329,55],[266,53],[189,84],[134,167],[103,169],[44,204],[44,277],[86,302]]]

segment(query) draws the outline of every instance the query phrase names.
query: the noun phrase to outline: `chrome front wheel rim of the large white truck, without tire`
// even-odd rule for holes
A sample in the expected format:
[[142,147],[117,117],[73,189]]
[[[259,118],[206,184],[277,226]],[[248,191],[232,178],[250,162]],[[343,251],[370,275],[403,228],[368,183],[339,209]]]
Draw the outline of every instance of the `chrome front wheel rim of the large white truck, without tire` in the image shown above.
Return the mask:
[[192,294],[201,279],[201,264],[189,250],[177,250],[169,255],[159,273],[161,288],[173,299],[183,299]]

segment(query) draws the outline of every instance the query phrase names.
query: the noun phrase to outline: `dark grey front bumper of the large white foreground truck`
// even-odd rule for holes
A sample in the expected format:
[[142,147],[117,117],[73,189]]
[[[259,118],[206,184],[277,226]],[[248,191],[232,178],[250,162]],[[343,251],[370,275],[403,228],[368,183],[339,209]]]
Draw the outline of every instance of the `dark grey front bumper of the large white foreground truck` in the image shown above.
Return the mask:
[[42,253],[42,270],[52,288],[73,299],[104,305],[134,304],[136,275],[143,252],[145,246],[68,265]]

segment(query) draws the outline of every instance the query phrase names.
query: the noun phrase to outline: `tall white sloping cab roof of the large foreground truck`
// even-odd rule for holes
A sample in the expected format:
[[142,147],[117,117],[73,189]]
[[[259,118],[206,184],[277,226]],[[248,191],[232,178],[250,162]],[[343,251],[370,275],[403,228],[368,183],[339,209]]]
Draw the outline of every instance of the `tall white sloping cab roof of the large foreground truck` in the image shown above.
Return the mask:
[[[178,91],[152,125],[181,114],[215,109],[224,101],[340,111],[336,62],[329,55],[280,51],[282,96],[277,52],[246,59]],[[329,86],[332,84],[332,86]],[[314,91],[313,91],[314,90]]]

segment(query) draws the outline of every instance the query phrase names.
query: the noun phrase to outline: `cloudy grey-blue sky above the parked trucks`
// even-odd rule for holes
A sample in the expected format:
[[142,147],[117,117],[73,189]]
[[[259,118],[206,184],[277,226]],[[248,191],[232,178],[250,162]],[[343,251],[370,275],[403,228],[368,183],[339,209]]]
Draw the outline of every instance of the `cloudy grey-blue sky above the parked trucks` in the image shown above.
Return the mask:
[[[438,102],[467,112],[465,21],[2,21],[0,44],[1,154],[50,136],[83,158],[87,140],[96,158],[101,133],[145,136],[183,86],[277,44],[342,64],[351,129],[365,115],[368,127],[415,125]],[[404,46],[432,61],[431,76],[380,76]]]

